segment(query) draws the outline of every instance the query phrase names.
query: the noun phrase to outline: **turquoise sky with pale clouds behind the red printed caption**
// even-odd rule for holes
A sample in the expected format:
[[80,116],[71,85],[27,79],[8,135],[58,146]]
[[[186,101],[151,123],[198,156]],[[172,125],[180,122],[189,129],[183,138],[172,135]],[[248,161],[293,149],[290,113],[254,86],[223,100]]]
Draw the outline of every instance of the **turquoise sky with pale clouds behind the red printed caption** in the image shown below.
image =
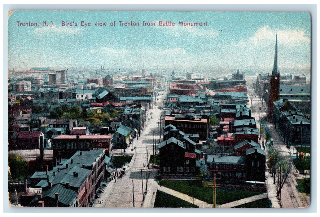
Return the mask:
[[[18,26],[17,21],[38,26]],[[61,26],[62,21],[77,26]],[[95,26],[98,21],[106,26]],[[140,26],[120,26],[119,21]],[[143,21],[156,25],[142,26]],[[175,26],[159,26],[159,21]],[[207,26],[178,26],[179,21]],[[277,34],[279,68],[310,69],[310,27],[310,16],[303,12],[14,11],[8,20],[8,65],[17,70],[141,68],[142,63],[145,68],[272,69]]]

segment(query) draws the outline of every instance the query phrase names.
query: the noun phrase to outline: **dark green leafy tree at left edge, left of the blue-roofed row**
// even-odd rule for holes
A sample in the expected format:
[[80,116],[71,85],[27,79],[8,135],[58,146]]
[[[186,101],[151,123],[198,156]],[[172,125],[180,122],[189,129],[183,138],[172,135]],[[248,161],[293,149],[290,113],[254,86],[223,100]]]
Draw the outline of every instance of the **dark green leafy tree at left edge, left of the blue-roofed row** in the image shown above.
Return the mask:
[[8,157],[9,174],[12,179],[26,179],[29,175],[27,161],[17,154],[9,154]]

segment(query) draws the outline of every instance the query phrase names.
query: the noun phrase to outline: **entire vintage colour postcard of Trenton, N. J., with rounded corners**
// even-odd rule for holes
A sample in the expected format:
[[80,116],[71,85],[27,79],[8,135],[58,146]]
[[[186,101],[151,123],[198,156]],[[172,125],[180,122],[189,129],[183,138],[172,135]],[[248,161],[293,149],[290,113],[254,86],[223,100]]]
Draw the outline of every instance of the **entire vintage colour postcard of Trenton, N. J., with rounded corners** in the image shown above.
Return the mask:
[[9,205],[308,207],[310,20],[10,11]]

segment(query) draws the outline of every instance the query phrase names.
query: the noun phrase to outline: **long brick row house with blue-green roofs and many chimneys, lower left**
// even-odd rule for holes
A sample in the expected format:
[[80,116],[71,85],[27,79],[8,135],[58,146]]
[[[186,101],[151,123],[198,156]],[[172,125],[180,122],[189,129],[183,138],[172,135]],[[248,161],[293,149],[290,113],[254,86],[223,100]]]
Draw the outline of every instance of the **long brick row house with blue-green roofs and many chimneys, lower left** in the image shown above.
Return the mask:
[[90,207],[105,180],[104,149],[77,151],[53,170],[35,172],[22,206]]

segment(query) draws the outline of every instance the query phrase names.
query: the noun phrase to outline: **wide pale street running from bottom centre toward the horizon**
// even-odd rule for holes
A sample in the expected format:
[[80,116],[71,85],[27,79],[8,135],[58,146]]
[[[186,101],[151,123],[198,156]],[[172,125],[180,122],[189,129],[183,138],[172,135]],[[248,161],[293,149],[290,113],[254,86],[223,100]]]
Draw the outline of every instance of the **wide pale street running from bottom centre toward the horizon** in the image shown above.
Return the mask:
[[[158,131],[158,125],[156,122],[159,121],[162,111],[161,109],[158,109],[158,106],[162,106],[164,97],[164,94],[159,96],[156,101],[156,105],[153,106],[152,114],[150,114],[149,110],[144,131],[141,132],[139,139],[133,140],[132,145],[135,147],[133,150],[133,157],[131,163],[126,168],[124,175],[122,178],[119,178],[118,176],[116,180],[114,179],[111,182],[108,182],[107,187],[104,188],[104,192],[100,194],[100,198],[95,200],[92,205],[93,207],[133,207],[133,195],[134,207],[153,207],[158,187],[158,184],[155,181],[156,170],[148,169],[147,184],[146,165],[148,164],[147,161],[153,151],[152,131]],[[157,138],[158,136],[156,136],[156,142],[158,141]],[[131,152],[131,147],[126,149],[126,152]],[[103,201],[103,203],[99,203],[99,200]]]

